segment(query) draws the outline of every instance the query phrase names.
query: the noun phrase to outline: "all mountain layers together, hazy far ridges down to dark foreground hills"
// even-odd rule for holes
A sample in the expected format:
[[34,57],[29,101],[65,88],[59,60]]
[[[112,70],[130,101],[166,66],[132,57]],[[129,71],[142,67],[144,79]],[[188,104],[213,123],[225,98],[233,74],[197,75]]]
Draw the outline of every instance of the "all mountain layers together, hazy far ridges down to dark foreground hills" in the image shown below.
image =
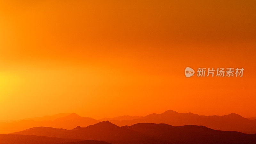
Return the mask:
[[234,113],[200,116],[173,110],[100,120],[61,113],[0,123],[0,131],[8,132],[0,134],[0,143],[6,144],[255,143],[256,119]]

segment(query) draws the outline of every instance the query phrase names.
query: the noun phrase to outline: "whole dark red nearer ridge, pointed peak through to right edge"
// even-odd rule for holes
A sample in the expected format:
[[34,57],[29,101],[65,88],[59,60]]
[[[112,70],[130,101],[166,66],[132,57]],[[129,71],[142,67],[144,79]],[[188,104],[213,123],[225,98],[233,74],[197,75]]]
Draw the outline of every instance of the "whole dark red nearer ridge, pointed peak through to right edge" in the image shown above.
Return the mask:
[[220,131],[205,126],[139,123],[119,127],[109,121],[72,130],[35,127],[11,134],[102,140],[110,143],[255,143],[256,134]]

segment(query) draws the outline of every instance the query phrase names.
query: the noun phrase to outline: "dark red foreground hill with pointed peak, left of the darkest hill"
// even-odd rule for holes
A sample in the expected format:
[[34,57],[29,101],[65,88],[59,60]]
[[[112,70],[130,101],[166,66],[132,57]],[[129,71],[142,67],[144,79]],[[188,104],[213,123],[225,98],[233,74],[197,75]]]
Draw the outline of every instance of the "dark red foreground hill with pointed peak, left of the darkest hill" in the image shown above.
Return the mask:
[[[53,130],[54,129],[54,130]],[[129,141],[156,141],[144,134],[134,132],[124,127],[119,127],[109,121],[100,122],[97,124],[89,125],[87,127],[75,128],[72,130],[63,130],[49,127],[35,127],[21,132],[14,132],[11,134],[24,134],[24,135],[38,135],[38,136],[51,136],[58,138],[72,138],[83,140],[102,140],[110,143],[123,143]]]

